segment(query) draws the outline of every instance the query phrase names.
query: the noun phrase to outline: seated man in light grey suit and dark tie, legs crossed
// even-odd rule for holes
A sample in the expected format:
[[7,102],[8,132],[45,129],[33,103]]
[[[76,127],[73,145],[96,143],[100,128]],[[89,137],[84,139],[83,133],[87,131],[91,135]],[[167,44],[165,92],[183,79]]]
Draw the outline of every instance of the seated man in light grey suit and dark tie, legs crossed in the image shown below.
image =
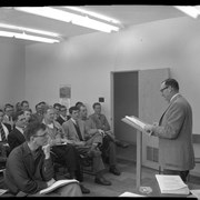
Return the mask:
[[71,107],[69,109],[71,118],[62,123],[66,137],[72,141],[78,151],[92,159],[93,172],[96,173],[94,182],[103,186],[110,186],[111,182],[103,177],[104,164],[101,158],[101,152],[98,149],[102,142],[101,133],[96,137],[88,138],[84,121],[78,118],[79,109]]

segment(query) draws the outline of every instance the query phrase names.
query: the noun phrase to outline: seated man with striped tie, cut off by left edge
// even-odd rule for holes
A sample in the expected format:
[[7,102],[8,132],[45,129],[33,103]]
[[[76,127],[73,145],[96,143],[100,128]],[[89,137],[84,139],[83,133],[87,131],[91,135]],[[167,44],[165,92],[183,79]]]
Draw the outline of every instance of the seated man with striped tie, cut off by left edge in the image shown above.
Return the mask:
[[3,110],[0,109],[0,169],[4,168],[7,157],[10,153],[10,147],[8,143],[9,130],[7,126],[2,122]]

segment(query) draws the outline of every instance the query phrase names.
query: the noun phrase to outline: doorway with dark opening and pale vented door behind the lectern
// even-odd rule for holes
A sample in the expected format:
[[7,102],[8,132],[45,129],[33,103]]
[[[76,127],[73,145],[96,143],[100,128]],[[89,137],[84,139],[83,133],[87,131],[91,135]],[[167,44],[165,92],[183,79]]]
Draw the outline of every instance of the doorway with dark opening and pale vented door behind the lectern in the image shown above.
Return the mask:
[[[136,116],[147,123],[158,121],[167,108],[160,94],[160,83],[169,69],[122,71],[111,73],[112,128],[116,137],[137,143],[137,130],[121,121]],[[142,166],[158,169],[158,138],[142,134]]]

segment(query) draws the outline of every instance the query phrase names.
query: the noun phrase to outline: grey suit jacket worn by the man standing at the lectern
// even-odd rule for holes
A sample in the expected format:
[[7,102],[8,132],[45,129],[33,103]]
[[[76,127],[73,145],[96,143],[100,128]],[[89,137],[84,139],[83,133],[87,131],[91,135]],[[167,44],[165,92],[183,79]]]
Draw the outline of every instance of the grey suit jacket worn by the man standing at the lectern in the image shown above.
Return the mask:
[[181,94],[171,100],[153,134],[159,137],[159,162],[163,169],[194,168],[192,109]]

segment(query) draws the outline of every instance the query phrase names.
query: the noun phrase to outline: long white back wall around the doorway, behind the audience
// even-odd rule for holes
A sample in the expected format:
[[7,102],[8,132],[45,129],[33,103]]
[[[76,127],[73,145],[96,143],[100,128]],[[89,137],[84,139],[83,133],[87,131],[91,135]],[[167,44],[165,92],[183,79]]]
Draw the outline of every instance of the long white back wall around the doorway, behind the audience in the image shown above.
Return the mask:
[[119,33],[91,33],[60,44],[26,49],[26,99],[36,104],[59,100],[59,84],[71,84],[71,104],[91,104],[104,97],[111,118],[110,71],[170,68],[193,108],[193,132],[200,132],[199,20],[177,18],[133,26]]

